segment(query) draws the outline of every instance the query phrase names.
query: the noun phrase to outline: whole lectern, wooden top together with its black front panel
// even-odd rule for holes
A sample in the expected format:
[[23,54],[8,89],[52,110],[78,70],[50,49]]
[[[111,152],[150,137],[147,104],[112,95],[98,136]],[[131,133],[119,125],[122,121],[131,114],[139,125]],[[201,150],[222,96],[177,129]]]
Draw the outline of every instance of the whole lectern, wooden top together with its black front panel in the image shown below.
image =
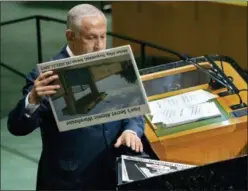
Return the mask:
[[212,58],[215,65],[203,57],[194,61],[206,70],[218,67],[240,90],[240,97],[220,96],[227,89],[185,61],[140,70],[149,101],[204,89],[218,96],[221,116],[171,128],[146,118],[145,137],[158,159],[196,167],[130,183],[122,182],[119,175],[118,190],[247,190],[247,107],[236,116],[231,108],[240,98],[247,105],[247,76],[231,58]]

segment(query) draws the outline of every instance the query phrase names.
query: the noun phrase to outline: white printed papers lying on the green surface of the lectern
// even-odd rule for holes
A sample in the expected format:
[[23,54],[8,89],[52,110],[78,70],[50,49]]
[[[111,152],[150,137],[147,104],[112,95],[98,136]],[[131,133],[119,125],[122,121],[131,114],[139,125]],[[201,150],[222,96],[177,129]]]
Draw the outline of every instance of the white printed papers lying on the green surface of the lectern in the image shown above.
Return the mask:
[[181,95],[150,102],[152,123],[163,123],[166,127],[180,125],[220,116],[214,102],[207,102],[216,95],[196,90]]

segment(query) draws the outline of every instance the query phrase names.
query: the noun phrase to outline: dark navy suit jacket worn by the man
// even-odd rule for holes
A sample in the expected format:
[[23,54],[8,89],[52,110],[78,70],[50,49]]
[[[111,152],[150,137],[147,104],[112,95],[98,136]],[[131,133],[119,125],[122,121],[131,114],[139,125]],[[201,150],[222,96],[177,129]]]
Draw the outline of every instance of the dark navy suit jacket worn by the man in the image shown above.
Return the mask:
[[[52,60],[67,57],[69,55],[64,47]],[[25,98],[38,75],[36,68],[27,75],[24,97],[8,118],[8,129],[16,136],[27,135],[40,127],[43,147],[37,189],[80,190],[92,185],[98,185],[95,188],[100,189],[100,184],[111,179],[106,173],[112,168],[116,157],[113,144],[126,129],[135,131],[141,137],[144,130],[143,117],[59,132],[47,99],[41,102],[41,106],[30,118],[25,115]]]

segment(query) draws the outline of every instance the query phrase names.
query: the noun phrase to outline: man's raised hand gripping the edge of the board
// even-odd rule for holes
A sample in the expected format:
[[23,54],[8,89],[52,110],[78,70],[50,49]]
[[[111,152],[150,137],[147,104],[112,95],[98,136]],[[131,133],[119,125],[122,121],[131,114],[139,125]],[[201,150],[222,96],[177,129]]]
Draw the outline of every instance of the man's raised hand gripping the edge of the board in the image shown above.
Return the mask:
[[50,96],[56,93],[56,90],[60,88],[59,85],[49,85],[49,83],[58,79],[58,75],[53,75],[53,71],[47,71],[39,75],[34,81],[34,87],[30,92],[28,102],[31,104],[37,104],[42,96]]

